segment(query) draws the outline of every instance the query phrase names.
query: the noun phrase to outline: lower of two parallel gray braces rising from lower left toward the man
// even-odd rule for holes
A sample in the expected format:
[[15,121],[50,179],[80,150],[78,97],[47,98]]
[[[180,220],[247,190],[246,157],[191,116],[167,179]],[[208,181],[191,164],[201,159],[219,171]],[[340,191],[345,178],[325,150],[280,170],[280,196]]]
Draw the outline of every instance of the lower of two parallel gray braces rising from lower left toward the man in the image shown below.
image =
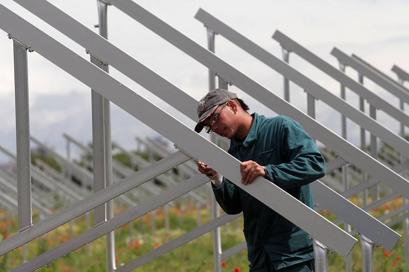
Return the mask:
[[90,243],[110,231],[114,231],[124,224],[141,217],[142,215],[156,209],[157,207],[163,206],[171,200],[176,199],[180,195],[183,195],[190,190],[197,188],[200,185],[208,182],[209,179],[203,175],[197,175],[188,179],[187,181],[181,183],[180,185],[174,186],[161,194],[152,197],[152,199],[139,204],[137,207],[129,208],[128,210],[116,215],[115,217],[108,219],[107,221],[96,226],[94,229],[90,229],[85,233],[72,238],[63,244],[57,245],[54,249],[49,250],[38,257],[14,268],[11,271],[34,271],[48,263],[69,254],[70,252],[79,249],[81,246]]

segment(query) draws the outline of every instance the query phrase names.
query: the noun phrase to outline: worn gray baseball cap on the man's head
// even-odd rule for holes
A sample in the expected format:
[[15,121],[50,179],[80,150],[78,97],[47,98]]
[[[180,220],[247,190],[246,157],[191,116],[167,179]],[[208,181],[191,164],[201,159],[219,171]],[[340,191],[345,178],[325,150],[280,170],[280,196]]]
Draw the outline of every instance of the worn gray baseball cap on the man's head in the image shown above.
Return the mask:
[[201,98],[197,105],[197,116],[199,117],[199,121],[197,122],[195,131],[199,133],[203,127],[205,127],[203,120],[212,115],[217,106],[236,98],[237,94],[224,89],[214,89],[208,92],[203,98]]

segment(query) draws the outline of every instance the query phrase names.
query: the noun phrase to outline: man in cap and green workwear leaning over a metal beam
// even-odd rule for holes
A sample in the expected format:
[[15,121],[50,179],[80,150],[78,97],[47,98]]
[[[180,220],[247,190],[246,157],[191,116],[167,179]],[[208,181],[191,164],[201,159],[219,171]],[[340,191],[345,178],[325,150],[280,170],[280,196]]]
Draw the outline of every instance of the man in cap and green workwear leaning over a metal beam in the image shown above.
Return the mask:
[[[200,132],[231,140],[228,153],[242,161],[241,182],[261,176],[314,209],[309,183],[325,176],[325,161],[301,125],[286,116],[266,118],[247,112],[235,93],[215,89],[199,102]],[[220,207],[243,212],[250,271],[313,271],[314,253],[308,234],[203,162],[198,170],[212,180]]]

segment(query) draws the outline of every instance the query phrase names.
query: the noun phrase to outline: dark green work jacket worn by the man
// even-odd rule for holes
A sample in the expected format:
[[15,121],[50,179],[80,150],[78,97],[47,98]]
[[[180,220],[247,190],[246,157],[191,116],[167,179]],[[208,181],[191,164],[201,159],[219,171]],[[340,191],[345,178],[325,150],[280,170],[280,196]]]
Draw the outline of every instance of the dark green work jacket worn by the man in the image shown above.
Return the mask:
[[[244,141],[232,139],[228,153],[240,161],[253,160],[264,166],[267,180],[314,209],[308,184],[325,176],[325,160],[315,142],[289,117],[252,116],[247,137]],[[305,231],[226,178],[220,187],[212,187],[226,213],[243,212],[251,271],[264,266],[266,254],[276,270],[314,258],[312,239]]]

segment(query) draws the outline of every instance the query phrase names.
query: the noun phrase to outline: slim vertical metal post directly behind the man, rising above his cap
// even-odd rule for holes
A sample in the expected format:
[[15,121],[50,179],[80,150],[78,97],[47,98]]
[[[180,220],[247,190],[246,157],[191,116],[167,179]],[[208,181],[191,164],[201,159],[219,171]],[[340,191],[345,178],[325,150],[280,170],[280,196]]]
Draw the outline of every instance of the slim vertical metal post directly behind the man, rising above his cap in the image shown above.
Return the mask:
[[[214,46],[215,33],[214,31],[207,28],[207,36],[208,36],[208,49],[209,51],[214,53],[215,52],[215,46]],[[215,89],[215,87],[216,87],[215,73],[209,69],[209,91]],[[223,81],[220,82],[220,79],[219,79],[219,88],[227,89],[227,85],[226,84],[223,85]],[[217,139],[214,136],[214,134],[211,134],[210,138],[212,142],[216,143]],[[219,217],[220,212],[219,212],[219,206],[213,194],[212,188],[210,188],[210,194],[211,194],[211,199],[212,199],[212,215],[213,215],[213,219],[216,219],[217,217]],[[221,272],[220,228],[216,228],[213,230],[213,258],[214,258],[214,271]]]

